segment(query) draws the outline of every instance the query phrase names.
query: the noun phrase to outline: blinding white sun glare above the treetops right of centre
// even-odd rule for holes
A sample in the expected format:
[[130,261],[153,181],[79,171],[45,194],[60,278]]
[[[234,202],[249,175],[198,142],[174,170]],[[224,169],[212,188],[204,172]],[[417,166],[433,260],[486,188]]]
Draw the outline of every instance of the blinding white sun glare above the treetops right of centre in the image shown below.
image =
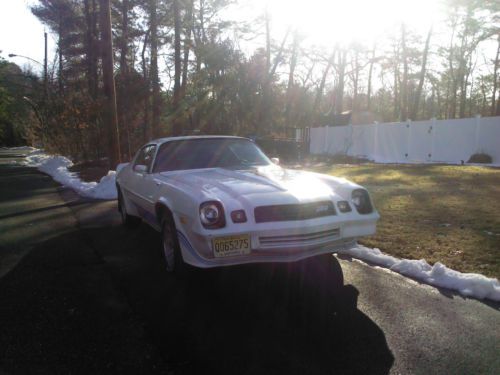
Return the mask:
[[436,0],[253,0],[251,7],[267,9],[274,35],[291,27],[318,45],[372,42],[403,22],[425,32],[439,14]]

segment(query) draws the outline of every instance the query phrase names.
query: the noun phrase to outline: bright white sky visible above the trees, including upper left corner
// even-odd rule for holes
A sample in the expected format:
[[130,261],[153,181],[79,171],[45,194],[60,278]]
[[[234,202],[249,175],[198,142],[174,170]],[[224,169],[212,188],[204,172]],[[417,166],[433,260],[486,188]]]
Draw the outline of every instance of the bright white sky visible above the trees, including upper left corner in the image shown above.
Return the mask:
[[[8,54],[14,53],[43,63],[44,26],[29,10],[29,5],[36,3],[37,0],[0,0],[0,55],[40,72],[40,64],[22,57],[8,57]],[[444,25],[441,4],[439,0],[239,0],[223,16],[236,21],[252,21],[261,17],[267,9],[275,40],[280,41],[291,27],[304,37],[304,44],[330,50],[336,44],[351,41],[373,45],[384,34],[398,32],[402,22],[422,36],[434,23],[433,42],[444,37],[447,40],[448,36],[440,35],[439,30]],[[56,51],[56,40],[50,33],[48,45],[50,65]],[[264,45],[261,33],[260,38],[240,47],[249,54]],[[483,46],[488,55],[489,50],[494,50],[496,46],[495,43],[491,45],[493,47]]]

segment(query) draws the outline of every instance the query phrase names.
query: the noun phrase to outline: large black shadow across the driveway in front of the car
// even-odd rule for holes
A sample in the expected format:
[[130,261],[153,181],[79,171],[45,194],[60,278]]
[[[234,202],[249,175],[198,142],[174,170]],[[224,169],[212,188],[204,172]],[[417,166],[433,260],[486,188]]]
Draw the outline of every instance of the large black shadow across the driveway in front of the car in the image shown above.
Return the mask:
[[177,279],[158,243],[141,225],[37,247],[0,279],[0,370],[389,373],[384,333],[357,309],[353,286],[327,308],[285,265],[190,269]]

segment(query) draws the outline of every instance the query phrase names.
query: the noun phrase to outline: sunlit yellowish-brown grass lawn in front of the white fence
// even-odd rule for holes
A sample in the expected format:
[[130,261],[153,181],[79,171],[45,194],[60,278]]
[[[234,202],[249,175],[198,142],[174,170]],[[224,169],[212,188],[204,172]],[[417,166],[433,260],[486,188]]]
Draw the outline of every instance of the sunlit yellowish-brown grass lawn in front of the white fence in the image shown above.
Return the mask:
[[370,191],[381,219],[363,245],[500,279],[500,168],[361,164],[316,170]]

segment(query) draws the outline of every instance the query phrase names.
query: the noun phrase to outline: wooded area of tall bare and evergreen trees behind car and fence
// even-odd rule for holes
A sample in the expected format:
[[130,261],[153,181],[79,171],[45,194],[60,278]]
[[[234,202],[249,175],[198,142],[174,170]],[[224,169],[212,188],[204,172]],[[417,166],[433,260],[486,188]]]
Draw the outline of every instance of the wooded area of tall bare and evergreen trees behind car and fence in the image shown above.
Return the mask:
[[[43,77],[0,61],[1,143],[28,139],[116,164],[155,137],[286,136],[344,111],[379,121],[500,115],[500,3],[445,2],[445,37],[401,24],[373,45],[320,48],[291,27],[275,40],[269,14],[233,22],[230,0],[39,0],[31,10],[57,55],[46,90]],[[105,79],[108,3],[117,127]]]

